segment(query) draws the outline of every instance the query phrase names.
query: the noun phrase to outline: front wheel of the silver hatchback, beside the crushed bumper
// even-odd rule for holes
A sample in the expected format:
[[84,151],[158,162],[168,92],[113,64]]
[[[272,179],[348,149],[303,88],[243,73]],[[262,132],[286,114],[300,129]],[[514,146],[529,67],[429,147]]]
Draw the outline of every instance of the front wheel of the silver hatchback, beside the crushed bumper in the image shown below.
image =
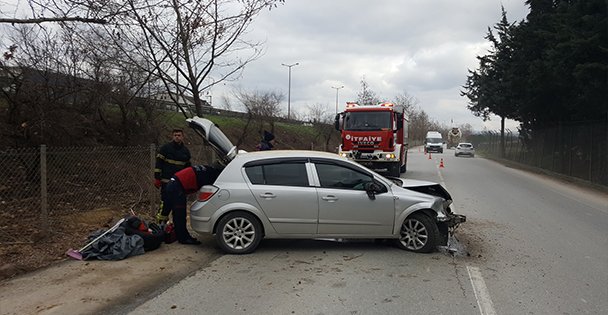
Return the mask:
[[416,253],[435,251],[439,242],[439,228],[431,217],[414,213],[401,224],[397,246]]

